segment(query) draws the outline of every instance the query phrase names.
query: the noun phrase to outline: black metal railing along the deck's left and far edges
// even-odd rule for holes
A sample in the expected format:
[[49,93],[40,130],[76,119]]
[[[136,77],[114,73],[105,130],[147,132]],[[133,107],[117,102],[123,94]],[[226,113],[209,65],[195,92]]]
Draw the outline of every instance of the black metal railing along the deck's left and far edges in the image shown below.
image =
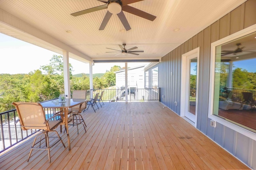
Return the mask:
[[[86,98],[90,99],[90,96],[95,96],[96,93],[104,91],[102,100],[109,102],[125,101],[125,89],[93,89],[87,90]],[[91,95],[92,92],[92,95]],[[128,101],[159,101],[160,89],[128,89],[127,99]],[[52,99],[54,100],[54,99]],[[45,101],[46,102],[46,101]],[[41,102],[42,103],[42,102]],[[54,115],[54,113],[60,111],[59,109],[44,109],[46,119]],[[5,111],[0,113],[0,153],[9,149],[13,145],[27,139],[34,135],[34,131],[24,131],[20,127],[20,123],[14,122],[18,119],[18,113],[16,109]]]

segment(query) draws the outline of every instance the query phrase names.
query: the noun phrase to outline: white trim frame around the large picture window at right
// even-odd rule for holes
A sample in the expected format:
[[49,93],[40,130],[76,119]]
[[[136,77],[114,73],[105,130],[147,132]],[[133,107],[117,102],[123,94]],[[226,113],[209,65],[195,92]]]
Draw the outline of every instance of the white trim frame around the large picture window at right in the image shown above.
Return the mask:
[[224,37],[218,41],[215,41],[211,43],[211,56],[210,56],[210,89],[209,89],[209,109],[208,109],[208,117],[226,127],[229,127],[230,129],[233,129],[234,131],[237,131],[238,133],[241,133],[242,135],[245,135],[246,137],[249,137],[253,140],[256,140],[256,133],[249,131],[243,127],[240,127],[234,123],[231,123],[229,121],[226,121],[225,119],[222,119],[221,117],[218,117],[216,115],[213,115],[213,101],[214,101],[214,70],[215,70],[215,47],[224,43],[227,43],[228,41],[232,41],[234,39],[237,39],[239,37],[242,37],[244,35],[250,34],[252,32],[256,31],[256,24],[247,27],[246,29],[243,29],[241,31],[238,31],[232,35],[229,35],[227,37]]

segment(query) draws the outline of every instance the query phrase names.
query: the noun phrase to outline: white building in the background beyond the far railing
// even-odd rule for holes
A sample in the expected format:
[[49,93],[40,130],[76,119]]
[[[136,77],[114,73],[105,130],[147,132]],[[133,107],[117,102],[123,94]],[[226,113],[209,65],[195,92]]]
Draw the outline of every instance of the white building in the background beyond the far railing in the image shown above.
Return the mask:
[[[127,69],[128,89],[144,88],[144,67],[136,66]],[[116,89],[125,89],[125,69],[116,71]]]

